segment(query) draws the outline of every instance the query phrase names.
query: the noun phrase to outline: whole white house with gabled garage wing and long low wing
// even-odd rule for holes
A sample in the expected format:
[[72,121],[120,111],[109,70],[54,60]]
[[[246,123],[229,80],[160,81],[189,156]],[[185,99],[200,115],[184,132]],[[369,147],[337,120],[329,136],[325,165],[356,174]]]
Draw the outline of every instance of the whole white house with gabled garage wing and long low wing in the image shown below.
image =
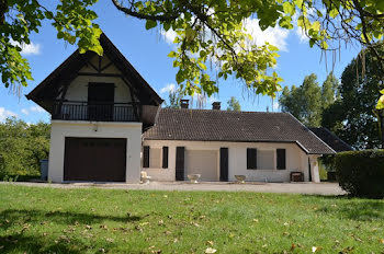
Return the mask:
[[317,158],[335,151],[286,113],[160,108],[161,97],[102,34],[104,55],[75,51],[30,94],[52,114],[53,182],[319,182]]

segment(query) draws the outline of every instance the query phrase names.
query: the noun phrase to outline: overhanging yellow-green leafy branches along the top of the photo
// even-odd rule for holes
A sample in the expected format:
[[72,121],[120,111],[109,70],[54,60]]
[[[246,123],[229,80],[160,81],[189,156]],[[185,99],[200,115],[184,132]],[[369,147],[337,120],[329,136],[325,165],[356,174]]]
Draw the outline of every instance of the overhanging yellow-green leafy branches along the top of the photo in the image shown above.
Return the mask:
[[[159,27],[177,33],[169,57],[179,68],[176,79],[189,95],[218,91],[216,76],[211,78],[206,64],[216,61],[212,71],[217,77],[241,79],[258,94],[274,94],[282,79],[272,67],[279,50],[273,45],[252,45],[244,21],[259,19],[262,30],[280,25],[301,27],[309,45],[337,51],[340,42],[359,44],[375,54],[381,69],[383,58],[376,45],[383,44],[384,3],[375,0],[111,0],[129,16],[146,20],[147,30]],[[98,42],[100,28],[91,8],[97,0],[60,1],[49,10],[37,0],[0,0],[0,73],[5,86],[26,85],[32,79],[27,61],[20,55],[21,46],[30,43],[30,34],[38,32],[44,20],[50,20],[57,37],[77,44],[81,53],[93,50],[102,55]],[[297,20],[293,19],[298,16]],[[12,38],[12,39],[11,39]]]

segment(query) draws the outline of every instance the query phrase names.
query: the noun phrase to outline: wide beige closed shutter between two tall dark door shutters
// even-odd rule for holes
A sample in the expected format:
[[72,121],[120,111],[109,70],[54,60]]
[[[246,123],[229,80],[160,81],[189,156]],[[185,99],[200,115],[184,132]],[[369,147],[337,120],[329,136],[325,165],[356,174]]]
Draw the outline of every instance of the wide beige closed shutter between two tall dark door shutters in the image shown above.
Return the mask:
[[185,150],[185,178],[201,174],[201,181],[218,181],[218,151]]

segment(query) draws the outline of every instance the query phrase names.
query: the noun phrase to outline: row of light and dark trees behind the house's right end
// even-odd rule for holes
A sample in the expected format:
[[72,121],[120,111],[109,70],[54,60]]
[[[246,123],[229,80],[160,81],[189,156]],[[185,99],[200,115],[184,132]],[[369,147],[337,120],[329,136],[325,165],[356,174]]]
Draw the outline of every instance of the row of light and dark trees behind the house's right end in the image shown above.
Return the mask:
[[[384,55],[384,47],[380,49]],[[304,78],[302,85],[284,88],[279,100],[307,126],[323,126],[357,149],[381,147],[383,112],[376,111],[384,77],[377,57],[362,51],[364,61],[354,58],[343,70],[340,81],[330,73],[320,86],[316,74]]]

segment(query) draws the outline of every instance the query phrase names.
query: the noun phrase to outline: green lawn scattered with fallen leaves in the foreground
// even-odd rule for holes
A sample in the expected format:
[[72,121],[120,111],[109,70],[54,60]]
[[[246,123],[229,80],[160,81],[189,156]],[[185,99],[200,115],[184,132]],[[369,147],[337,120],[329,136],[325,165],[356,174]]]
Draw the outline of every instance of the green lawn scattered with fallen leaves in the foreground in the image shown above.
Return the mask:
[[382,253],[384,200],[0,185],[0,253]]

